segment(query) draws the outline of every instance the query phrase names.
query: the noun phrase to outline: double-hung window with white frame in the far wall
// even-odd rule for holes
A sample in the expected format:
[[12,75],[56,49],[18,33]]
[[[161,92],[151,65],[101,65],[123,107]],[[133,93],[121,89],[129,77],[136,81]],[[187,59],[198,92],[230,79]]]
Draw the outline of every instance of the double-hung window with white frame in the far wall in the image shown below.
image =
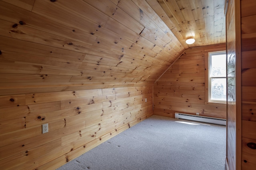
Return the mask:
[[226,103],[226,51],[208,53],[208,101]]

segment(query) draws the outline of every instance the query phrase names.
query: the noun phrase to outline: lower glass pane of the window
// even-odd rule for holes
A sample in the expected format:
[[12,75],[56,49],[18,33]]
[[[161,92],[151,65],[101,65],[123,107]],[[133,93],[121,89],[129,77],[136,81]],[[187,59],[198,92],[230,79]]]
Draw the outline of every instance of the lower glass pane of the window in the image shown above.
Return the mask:
[[211,100],[226,101],[226,78],[212,78]]

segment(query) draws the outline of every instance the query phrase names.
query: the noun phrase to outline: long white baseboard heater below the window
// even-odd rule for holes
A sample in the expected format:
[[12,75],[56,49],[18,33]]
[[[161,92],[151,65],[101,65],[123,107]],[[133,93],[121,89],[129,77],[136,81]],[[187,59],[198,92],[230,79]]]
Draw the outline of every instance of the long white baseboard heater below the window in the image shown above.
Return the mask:
[[226,119],[215,118],[215,117],[190,115],[190,114],[185,114],[185,113],[175,113],[175,119],[186,119],[186,120],[190,120],[190,121],[214,123],[214,124],[226,126]]

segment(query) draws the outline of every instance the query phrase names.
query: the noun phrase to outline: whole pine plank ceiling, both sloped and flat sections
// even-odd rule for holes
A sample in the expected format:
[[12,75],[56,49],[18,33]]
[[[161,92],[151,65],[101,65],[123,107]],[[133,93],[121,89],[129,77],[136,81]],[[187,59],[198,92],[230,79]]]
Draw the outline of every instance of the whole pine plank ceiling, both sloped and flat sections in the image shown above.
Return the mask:
[[225,42],[224,0],[0,0],[0,22],[2,95],[150,85]]

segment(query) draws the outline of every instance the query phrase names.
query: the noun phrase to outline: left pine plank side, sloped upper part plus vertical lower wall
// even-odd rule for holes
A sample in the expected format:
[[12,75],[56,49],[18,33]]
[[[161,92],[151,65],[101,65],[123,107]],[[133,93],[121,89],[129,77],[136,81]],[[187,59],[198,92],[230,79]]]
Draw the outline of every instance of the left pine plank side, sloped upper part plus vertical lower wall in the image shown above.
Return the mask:
[[184,51],[145,0],[0,0],[0,23],[0,169],[58,168],[146,119]]

